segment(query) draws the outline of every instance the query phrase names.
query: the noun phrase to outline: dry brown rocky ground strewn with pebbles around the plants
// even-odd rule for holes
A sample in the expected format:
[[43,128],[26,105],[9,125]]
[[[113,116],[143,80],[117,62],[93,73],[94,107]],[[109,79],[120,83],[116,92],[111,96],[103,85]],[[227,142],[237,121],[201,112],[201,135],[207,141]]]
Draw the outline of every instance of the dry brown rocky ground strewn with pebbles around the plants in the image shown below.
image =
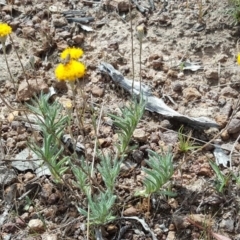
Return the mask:
[[[35,132],[26,124],[21,109],[34,93],[48,92],[51,87],[57,92],[55,101],[72,98],[67,85],[55,79],[54,68],[62,50],[81,47],[87,74],[78,87],[98,113],[103,107],[99,142],[103,149],[111,149],[116,135],[107,114],[119,113],[130,95],[101,74],[98,66],[109,63],[133,79],[133,50],[134,78],[138,81],[138,26],[145,28],[143,83],[175,111],[189,117],[208,117],[216,127],[184,124],[183,132],[191,132],[195,144],[203,148],[182,153],[178,130],[183,123],[146,111],[133,136],[139,148],[126,159],[130,167],[116,183],[116,194],[122,199],[116,215],[144,219],[155,239],[240,239],[239,185],[228,179],[219,193],[214,187],[216,174],[209,164],[209,160],[220,161],[225,176],[230,167],[236,175],[239,172],[240,67],[236,56],[240,27],[231,15],[232,5],[216,0],[132,2],[130,14],[128,0],[0,1],[0,19],[13,28],[13,43],[8,38],[6,47],[15,79],[13,83],[9,77],[1,46],[2,239],[85,239],[86,219],[77,212],[76,199],[68,189],[54,184],[49,175],[39,176],[29,164],[13,163],[27,159],[28,153],[24,155],[23,150],[27,151],[27,141]],[[80,97],[78,100],[81,104]],[[85,138],[80,133],[76,137],[83,140],[86,157],[92,159],[90,113],[84,126]],[[216,143],[220,149],[217,153]],[[145,199],[134,198],[132,193],[142,186],[146,149],[167,147],[174,153],[176,171],[171,182],[177,196],[154,196],[149,211]],[[102,232],[104,239],[154,239],[136,219],[113,221],[103,226]]]

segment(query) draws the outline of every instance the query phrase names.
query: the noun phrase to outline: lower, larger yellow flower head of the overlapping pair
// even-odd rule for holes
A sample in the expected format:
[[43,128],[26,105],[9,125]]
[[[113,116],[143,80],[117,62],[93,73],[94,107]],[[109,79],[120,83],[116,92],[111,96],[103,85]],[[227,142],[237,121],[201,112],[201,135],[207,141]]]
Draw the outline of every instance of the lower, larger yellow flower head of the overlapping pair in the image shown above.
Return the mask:
[[84,76],[86,67],[83,63],[70,60],[67,64],[60,63],[55,69],[55,76],[59,81],[76,81]]

